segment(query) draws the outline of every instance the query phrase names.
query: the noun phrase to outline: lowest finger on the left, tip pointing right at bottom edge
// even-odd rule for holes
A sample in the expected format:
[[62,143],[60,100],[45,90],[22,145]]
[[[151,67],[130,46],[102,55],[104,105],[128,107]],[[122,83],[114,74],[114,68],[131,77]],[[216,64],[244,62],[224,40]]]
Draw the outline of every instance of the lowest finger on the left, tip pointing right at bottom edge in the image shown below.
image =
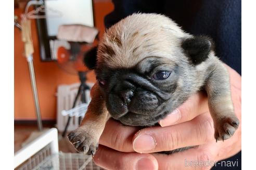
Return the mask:
[[157,160],[151,154],[124,153],[101,145],[93,160],[105,169],[158,169]]

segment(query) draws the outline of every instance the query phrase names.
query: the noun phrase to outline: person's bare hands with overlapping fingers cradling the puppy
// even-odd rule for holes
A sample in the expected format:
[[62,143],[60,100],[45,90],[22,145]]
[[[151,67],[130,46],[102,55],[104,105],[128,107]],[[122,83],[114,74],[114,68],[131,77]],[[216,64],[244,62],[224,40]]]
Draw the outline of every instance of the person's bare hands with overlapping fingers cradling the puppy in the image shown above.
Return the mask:
[[[235,113],[241,122],[241,76],[228,66],[227,69]],[[191,96],[159,123],[162,127],[139,130],[138,127],[109,120],[100,137],[99,143],[104,146],[99,147],[94,157],[95,163],[107,169],[139,169],[139,165],[144,169],[183,169],[185,166],[186,169],[195,169],[189,163],[219,161],[241,150],[241,123],[233,137],[216,143],[207,96],[202,92]],[[197,145],[170,155],[153,153]]]

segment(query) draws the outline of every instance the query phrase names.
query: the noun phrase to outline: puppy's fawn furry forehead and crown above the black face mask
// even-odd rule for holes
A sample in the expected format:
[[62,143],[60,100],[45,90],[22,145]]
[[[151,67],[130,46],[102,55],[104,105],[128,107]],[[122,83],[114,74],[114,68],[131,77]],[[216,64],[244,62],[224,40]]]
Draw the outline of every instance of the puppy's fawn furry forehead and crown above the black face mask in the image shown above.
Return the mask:
[[138,13],[107,30],[98,48],[97,64],[133,67],[148,56],[175,60],[182,38],[189,36],[171,19],[157,14]]

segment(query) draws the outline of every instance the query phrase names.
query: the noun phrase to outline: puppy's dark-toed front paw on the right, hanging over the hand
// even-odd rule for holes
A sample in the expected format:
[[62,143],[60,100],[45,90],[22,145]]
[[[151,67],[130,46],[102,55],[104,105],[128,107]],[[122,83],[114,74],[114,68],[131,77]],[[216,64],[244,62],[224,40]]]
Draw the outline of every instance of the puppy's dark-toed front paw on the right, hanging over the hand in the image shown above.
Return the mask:
[[235,131],[238,129],[239,120],[235,114],[231,116],[222,117],[216,122],[214,137],[217,140],[226,140],[233,136]]

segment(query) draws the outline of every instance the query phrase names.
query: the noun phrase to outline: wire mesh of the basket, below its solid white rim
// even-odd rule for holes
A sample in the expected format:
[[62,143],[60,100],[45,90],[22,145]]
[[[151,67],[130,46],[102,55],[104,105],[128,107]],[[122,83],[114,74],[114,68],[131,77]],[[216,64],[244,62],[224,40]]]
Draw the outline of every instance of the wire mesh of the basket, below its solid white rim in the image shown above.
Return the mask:
[[33,155],[28,161],[17,167],[18,170],[101,170],[92,157],[83,153],[50,153],[50,145]]

